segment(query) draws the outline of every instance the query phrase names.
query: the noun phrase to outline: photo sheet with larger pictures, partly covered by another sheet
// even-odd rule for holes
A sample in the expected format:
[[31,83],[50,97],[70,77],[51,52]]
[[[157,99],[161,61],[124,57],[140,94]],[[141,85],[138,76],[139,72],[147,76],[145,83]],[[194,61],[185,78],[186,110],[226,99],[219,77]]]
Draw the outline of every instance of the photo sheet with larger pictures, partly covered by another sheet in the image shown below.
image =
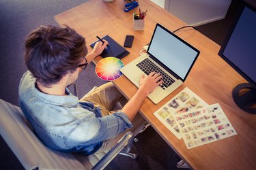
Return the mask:
[[154,116],[158,118],[178,139],[182,139],[180,129],[177,126],[174,116],[182,114],[190,110],[205,107],[208,104],[198,97],[188,87],[184,88],[173,99],[163,105],[160,109],[154,112]]

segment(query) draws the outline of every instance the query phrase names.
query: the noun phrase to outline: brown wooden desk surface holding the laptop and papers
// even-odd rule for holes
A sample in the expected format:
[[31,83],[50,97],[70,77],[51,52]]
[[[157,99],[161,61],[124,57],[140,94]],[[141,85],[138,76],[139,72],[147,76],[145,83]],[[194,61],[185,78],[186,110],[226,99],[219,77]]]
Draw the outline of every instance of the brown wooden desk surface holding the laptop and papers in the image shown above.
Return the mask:
[[[111,3],[102,0],[87,1],[55,16],[55,20],[59,24],[67,24],[76,29],[85,37],[88,48],[89,44],[96,41],[95,35],[100,37],[110,35],[119,44],[124,44],[126,35],[134,35],[132,48],[127,48],[130,54],[122,59],[126,65],[137,58],[141,48],[149,43],[156,22],[171,31],[186,25],[151,1],[141,0],[141,2],[141,10],[148,11],[144,31],[133,31],[132,13],[137,12],[138,9],[128,13],[123,12],[125,1]],[[201,54],[186,82],[180,88],[157,105],[146,99],[140,113],[169,146],[194,169],[256,169],[256,116],[243,112],[231,97],[233,87],[246,81],[218,56],[220,46],[212,40],[191,28],[177,31],[176,35],[195,46]],[[94,62],[97,63],[100,59],[101,57],[98,56]],[[128,99],[137,91],[125,76],[113,83]],[[188,150],[184,141],[177,139],[153,115],[157,109],[185,87],[193,90],[208,104],[220,103],[238,135]]]

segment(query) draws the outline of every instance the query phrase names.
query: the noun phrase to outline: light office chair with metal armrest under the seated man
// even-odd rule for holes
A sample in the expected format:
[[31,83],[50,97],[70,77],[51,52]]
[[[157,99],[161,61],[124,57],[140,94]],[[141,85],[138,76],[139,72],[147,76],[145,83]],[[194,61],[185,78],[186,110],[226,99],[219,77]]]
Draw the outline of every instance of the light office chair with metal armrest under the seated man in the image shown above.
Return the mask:
[[134,139],[126,133],[106,153],[83,156],[51,150],[33,133],[20,107],[0,99],[0,134],[25,169],[104,169],[117,154],[137,158],[129,153]]

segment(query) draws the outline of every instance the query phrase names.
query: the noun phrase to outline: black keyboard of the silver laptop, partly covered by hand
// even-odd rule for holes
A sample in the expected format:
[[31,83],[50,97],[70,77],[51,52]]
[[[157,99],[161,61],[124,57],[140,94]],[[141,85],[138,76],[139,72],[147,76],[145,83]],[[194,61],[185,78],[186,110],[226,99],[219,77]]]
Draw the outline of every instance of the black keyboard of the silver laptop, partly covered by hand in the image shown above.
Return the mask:
[[145,58],[143,61],[138,63],[136,66],[139,67],[139,69],[141,69],[141,71],[143,71],[146,75],[149,75],[153,71],[155,73],[160,73],[160,75],[162,75],[161,80],[164,81],[162,84],[160,84],[160,87],[164,90],[165,90],[165,88],[168,88],[169,86],[171,86],[171,84],[173,84],[173,82],[175,82],[175,80],[173,80],[173,78],[171,78],[169,75],[167,75],[167,73],[165,73],[165,71],[162,71],[162,69],[160,69],[157,65],[155,65],[148,58]]

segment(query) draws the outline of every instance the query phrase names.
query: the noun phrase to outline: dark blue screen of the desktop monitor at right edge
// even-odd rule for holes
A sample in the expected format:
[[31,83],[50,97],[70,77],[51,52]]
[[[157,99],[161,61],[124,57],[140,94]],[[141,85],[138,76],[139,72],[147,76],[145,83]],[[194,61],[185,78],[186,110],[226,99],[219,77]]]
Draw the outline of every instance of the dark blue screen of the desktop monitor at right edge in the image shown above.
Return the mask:
[[227,45],[223,49],[225,56],[236,69],[240,69],[246,80],[255,86],[256,82],[256,12],[248,7],[244,10],[233,29]]

